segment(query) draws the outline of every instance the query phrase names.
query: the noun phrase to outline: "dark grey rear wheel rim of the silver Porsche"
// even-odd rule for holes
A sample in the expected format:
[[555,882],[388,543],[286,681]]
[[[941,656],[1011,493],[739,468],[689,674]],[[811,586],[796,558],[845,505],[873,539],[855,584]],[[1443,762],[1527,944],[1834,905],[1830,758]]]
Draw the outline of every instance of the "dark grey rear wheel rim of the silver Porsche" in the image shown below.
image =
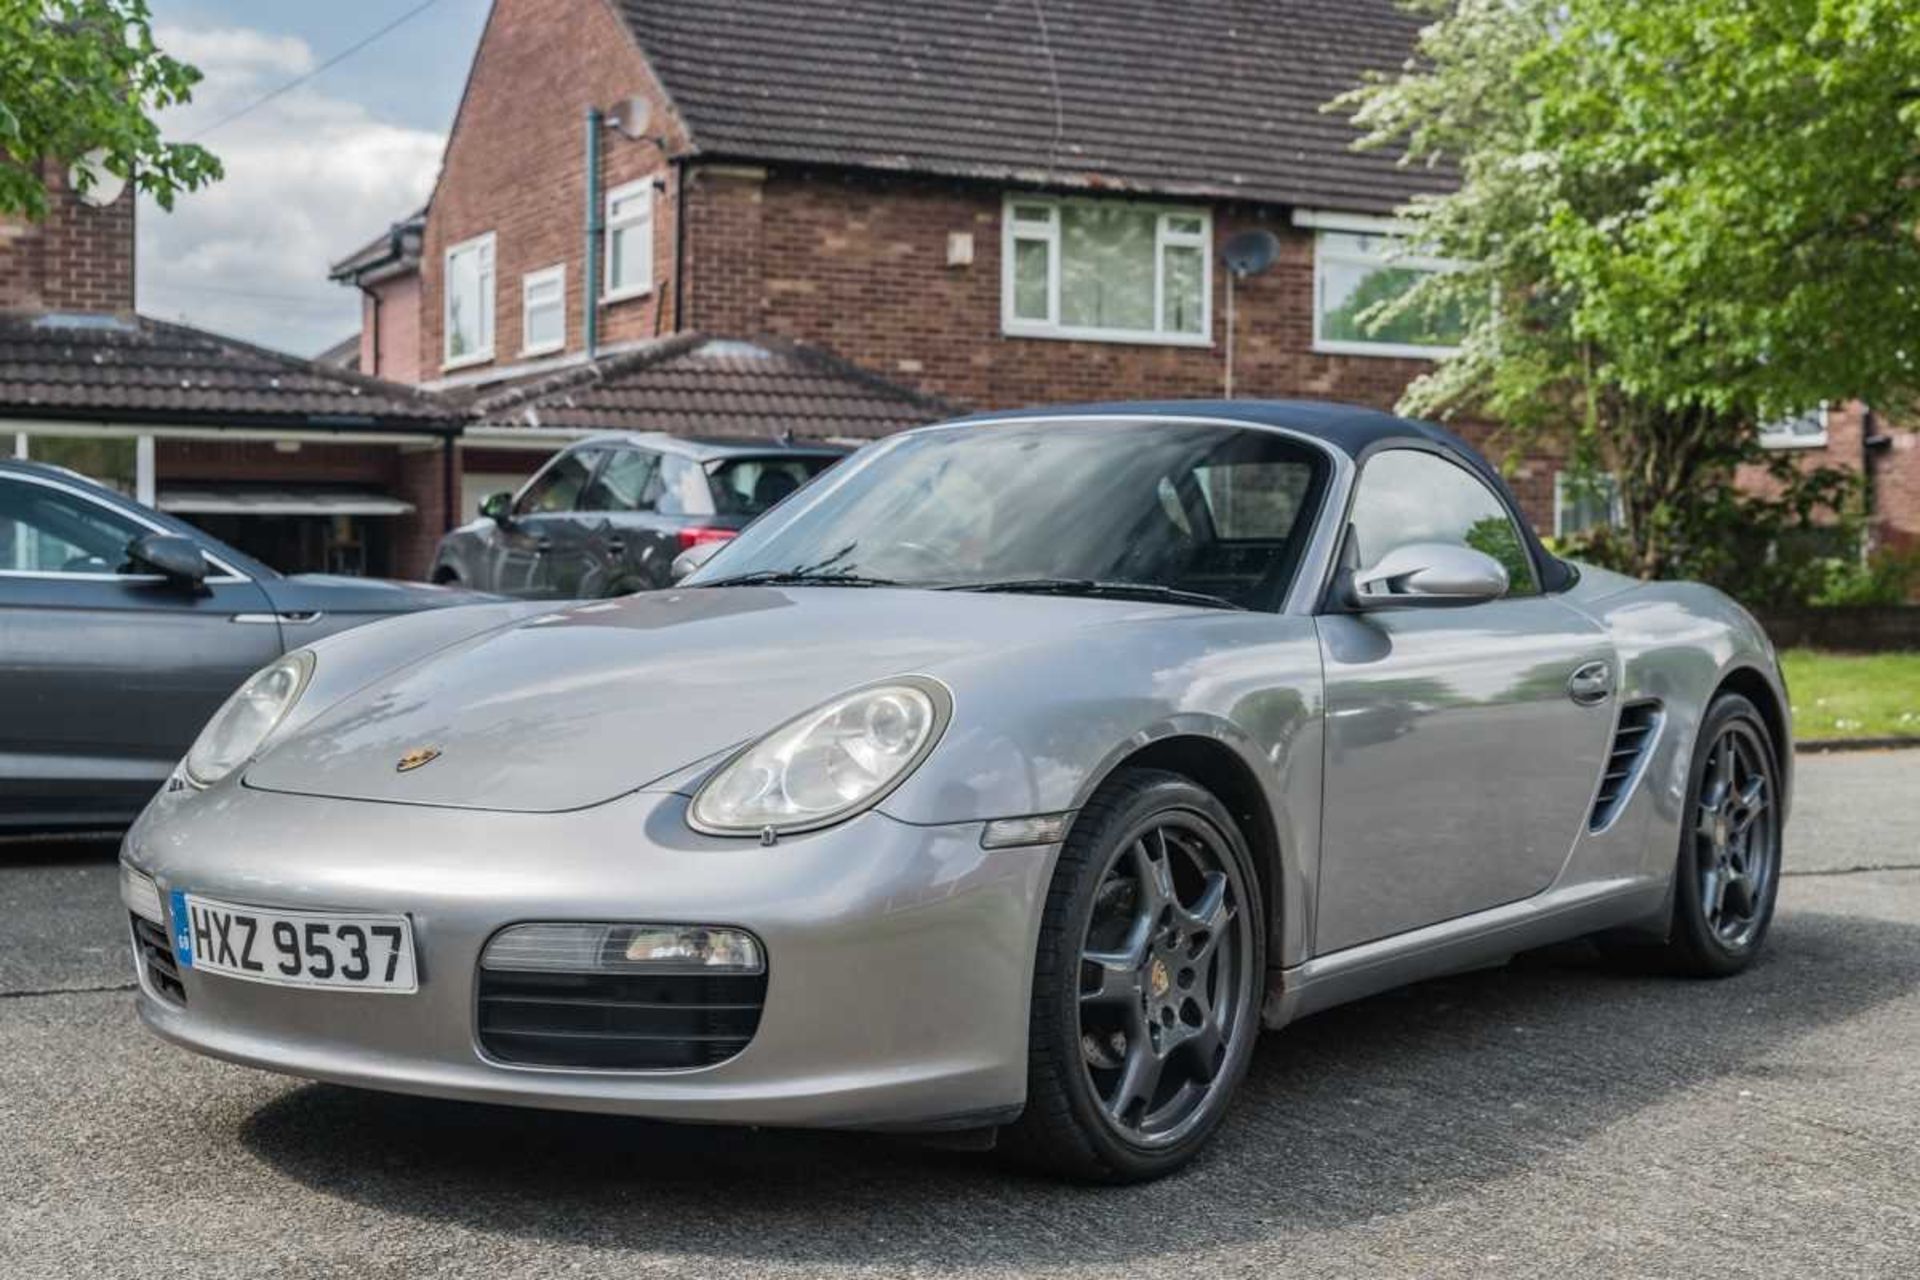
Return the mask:
[[1693,841],[1699,906],[1707,931],[1741,950],[1764,917],[1780,871],[1780,821],[1766,747],[1745,723],[1730,723],[1707,752]]

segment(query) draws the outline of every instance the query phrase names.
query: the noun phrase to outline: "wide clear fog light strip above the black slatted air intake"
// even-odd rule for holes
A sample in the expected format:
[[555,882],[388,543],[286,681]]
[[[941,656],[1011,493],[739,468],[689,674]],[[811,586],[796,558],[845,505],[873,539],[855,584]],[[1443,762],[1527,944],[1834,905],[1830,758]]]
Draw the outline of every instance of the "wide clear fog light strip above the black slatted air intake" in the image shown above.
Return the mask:
[[513,925],[480,956],[516,973],[760,973],[760,940],[712,925]]

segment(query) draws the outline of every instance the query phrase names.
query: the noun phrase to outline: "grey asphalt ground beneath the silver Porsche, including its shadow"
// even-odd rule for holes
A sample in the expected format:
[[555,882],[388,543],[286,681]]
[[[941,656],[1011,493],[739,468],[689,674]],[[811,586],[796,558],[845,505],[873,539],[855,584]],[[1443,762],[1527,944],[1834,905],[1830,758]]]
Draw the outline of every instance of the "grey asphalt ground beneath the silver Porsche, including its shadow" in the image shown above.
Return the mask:
[[1801,758],[1728,983],[1569,948],[1260,1048],[1183,1176],[301,1084],[152,1040],[111,848],[0,846],[0,1276],[1914,1276],[1920,752]]

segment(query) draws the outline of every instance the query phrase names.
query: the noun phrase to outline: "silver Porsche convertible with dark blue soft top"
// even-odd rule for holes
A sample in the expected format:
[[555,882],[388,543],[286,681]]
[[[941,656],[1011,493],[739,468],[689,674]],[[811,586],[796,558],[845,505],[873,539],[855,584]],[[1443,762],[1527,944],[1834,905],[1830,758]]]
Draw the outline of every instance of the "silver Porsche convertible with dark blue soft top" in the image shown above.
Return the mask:
[[292,652],[121,885],[215,1057],[1125,1180],[1261,1027],[1574,936],[1736,973],[1789,762],[1753,618],[1553,558],[1440,428],[1092,405],[870,445],[662,591]]

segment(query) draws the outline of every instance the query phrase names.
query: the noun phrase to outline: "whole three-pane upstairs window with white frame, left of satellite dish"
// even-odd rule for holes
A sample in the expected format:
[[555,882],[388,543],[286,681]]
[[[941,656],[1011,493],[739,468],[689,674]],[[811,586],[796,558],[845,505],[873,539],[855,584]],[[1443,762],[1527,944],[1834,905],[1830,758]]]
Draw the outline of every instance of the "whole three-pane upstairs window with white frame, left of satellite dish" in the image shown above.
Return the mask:
[[1213,223],[1204,209],[1016,198],[1002,228],[1004,332],[1208,344]]

